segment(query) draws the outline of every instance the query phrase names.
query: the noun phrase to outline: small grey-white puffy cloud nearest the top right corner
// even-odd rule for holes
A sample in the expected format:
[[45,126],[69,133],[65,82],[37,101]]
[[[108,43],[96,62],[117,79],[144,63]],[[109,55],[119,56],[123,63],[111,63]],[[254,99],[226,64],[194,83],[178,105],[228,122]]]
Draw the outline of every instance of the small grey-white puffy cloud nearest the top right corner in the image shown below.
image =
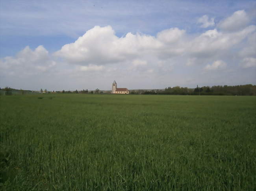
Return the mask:
[[239,10],[219,22],[218,27],[223,31],[238,31],[245,27],[249,21],[250,18],[245,10]]

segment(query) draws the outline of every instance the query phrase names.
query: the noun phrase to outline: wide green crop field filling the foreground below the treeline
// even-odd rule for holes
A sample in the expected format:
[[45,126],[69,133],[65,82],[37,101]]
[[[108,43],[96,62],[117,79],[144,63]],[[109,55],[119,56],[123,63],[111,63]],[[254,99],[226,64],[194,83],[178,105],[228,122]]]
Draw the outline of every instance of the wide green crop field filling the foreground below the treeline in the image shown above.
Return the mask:
[[0,96],[0,109],[2,190],[256,189],[256,96]]

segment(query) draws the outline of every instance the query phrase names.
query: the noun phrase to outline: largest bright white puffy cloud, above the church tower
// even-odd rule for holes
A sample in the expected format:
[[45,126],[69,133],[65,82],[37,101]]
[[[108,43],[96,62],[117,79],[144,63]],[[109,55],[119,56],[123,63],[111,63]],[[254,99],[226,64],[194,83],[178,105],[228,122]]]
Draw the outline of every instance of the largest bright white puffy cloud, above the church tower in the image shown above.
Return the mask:
[[69,63],[102,65],[134,59],[160,46],[161,43],[153,36],[128,33],[119,38],[111,26],[95,26],[76,42],[64,45],[54,55]]

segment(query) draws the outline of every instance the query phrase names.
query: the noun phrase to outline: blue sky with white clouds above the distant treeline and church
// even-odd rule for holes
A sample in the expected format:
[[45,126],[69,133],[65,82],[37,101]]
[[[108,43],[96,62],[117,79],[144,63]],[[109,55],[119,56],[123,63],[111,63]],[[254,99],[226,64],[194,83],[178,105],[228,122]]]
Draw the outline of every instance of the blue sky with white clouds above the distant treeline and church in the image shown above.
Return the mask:
[[0,0],[0,87],[256,85],[256,0]]

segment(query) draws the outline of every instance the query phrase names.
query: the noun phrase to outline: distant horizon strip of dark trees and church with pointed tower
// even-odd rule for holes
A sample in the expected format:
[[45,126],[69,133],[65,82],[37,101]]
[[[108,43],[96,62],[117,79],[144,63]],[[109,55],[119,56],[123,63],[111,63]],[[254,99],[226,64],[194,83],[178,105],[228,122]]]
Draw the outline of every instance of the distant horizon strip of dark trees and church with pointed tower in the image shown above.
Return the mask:
[[111,90],[74,90],[74,91],[47,91],[47,89],[41,89],[40,91],[13,89],[11,87],[5,87],[1,89],[0,95],[25,95],[25,94],[59,94],[59,93],[74,93],[74,94],[143,94],[143,95],[256,95],[256,85],[214,85],[214,86],[202,86],[195,88],[188,87],[166,87],[165,89],[132,89],[129,90],[125,87],[117,87],[117,82],[114,80]]

